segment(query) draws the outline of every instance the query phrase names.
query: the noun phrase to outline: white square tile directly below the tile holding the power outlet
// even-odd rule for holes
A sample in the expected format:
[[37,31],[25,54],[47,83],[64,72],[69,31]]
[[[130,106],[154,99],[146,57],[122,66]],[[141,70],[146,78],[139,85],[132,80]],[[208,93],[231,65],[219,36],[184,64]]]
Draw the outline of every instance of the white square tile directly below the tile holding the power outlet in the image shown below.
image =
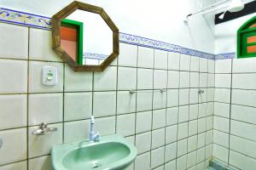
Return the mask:
[[30,126],[42,122],[62,122],[63,94],[29,94],[28,123]]

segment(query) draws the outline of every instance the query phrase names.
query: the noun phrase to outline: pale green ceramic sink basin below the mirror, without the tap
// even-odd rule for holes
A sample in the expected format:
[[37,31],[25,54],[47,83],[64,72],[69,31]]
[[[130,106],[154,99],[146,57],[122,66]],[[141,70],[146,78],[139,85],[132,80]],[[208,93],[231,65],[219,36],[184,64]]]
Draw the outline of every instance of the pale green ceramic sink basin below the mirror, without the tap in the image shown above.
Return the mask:
[[56,145],[51,155],[55,170],[121,170],[135,160],[137,150],[115,134],[96,143],[83,140]]

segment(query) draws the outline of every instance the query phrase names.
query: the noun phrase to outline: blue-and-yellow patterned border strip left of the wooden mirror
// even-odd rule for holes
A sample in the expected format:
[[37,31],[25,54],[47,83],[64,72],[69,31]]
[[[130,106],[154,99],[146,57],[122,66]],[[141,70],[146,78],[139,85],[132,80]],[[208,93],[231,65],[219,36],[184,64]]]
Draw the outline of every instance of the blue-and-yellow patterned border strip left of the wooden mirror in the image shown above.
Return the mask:
[[24,13],[9,8],[0,8],[0,21],[21,26],[32,26],[45,30],[51,29],[51,19],[49,17]]

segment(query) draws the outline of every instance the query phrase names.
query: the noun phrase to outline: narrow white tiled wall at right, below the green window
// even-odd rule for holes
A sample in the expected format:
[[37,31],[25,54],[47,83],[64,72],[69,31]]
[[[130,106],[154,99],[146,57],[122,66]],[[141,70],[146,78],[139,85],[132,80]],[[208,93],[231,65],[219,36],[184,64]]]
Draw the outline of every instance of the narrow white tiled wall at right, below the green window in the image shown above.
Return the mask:
[[256,59],[215,63],[212,155],[233,169],[256,169]]

